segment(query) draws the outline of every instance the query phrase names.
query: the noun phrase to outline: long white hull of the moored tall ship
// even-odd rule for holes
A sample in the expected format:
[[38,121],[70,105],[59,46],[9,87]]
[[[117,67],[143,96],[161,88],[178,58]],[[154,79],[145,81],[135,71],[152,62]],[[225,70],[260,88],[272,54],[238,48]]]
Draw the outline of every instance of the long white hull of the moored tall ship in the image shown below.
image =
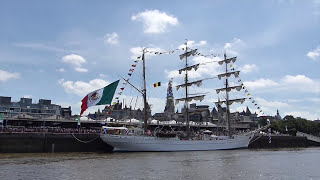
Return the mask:
[[253,133],[214,140],[180,140],[151,136],[101,134],[101,139],[114,147],[113,151],[210,151],[248,148]]

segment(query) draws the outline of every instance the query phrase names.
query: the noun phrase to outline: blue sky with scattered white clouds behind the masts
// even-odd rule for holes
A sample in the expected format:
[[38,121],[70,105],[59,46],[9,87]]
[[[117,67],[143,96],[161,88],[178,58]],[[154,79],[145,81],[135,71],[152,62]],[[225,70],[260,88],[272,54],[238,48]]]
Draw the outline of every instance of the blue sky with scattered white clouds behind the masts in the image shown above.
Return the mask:
[[[188,59],[189,65],[201,64],[190,71],[190,81],[211,78],[190,87],[190,94],[206,93],[202,102],[192,103],[212,109],[214,101],[225,98],[215,89],[224,85],[216,78],[224,66],[216,61],[226,52],[228,58],[237,56],[228,68],[240,70],[230,84],[243,83],[247,89],[230,96],[251,97],[232,106],[233,111],[248,106],[259,115],[275,115],[278,109],[282,117],[315,120],[320,118],[319,32],[319,0],[2,0],[0,96],[13,101],[30,97],[35,103],[51,99],[78,114],[87,93],[121,77],[141,89],[137,57],[147,48],[148,102],[152,114],[162,112],[169,79],[174,86],[183,83],[177,70],[185,64],[179,55],[187,42],[201,53]],[[153,88],[156,82],[162,85]],[[174,97],[183,97],[183,92],[174,88]],[[135,109],[142,107],[139,93],[123,81],[115,97]]]

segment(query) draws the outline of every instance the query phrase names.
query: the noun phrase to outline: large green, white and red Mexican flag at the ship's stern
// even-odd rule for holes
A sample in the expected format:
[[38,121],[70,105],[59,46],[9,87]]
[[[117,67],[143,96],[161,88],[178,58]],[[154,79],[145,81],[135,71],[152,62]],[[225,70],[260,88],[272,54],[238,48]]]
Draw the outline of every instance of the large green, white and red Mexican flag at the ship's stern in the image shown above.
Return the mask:
[[115,81],[104,88],[95,90],[87,94],[86,97],[82,99],[80,116],[90,106],[111,104],[113,95],[116,92],[119,81],[120,80]]

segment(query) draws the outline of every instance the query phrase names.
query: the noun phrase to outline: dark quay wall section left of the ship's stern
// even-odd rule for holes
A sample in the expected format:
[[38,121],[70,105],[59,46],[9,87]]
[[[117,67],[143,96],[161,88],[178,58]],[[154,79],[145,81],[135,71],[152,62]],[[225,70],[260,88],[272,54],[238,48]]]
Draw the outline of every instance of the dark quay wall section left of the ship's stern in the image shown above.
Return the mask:
[[99,134],[0,133],[0,153],[111,152]]

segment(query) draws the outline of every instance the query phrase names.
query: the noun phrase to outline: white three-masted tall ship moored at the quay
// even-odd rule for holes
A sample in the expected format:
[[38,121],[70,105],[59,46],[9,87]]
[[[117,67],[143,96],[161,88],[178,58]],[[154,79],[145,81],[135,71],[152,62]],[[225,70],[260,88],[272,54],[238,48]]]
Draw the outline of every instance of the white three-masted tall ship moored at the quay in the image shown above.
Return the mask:
[[[227,122],[227,134],[222,136],[213,135],[211,131],[203,131],[201,134],[193,134],[190,132],[190,120],[189,120],[189,102],[192,100],[202,101],[205,95],[189,95],[189,87],[192,85],[200,86],[202,80],[189,81],[188,71],[197,70],[200,64],[189,65],[188,58],[194,56],[197,53],[197,49],[190,49],[185,43],[185,51],[181,54],[180,60],[185,60],[185,67],[179,70],[179,73],[184,73],[184,83],[177,85],[177,89],[183,89],[185,92],[185,97],[175,99],[175,102],[184,102],[184,117],[185,117],[185,132],[183,133],[162,133],[154,132],[153,134],[148,130],[148,119],[147,119],[147,91],[146,91],[146,73],[145,73],[145,53],[146,49],[142,52],[142,62],[143,62],[143,80],[144,87],[142,90],[137,89],[144,100],[144,127],[139,133],[135,130],[134,133],[128,133],[127,128],[115,128],[115,127],[103,127],[103,131],[100,134],[101,139],[114,147],[114,151],[210,151],[210,150],[227,150],[227,149],[238,149],[247,148],[251,139],[254,137],[254,131],[234,134],[232,131],[230,123],[230,108],[229,106],[233,103],[243,103],[245,98],[230,99],[229,92],[233,90],[240,91],[242,86],[230,86],[229,78],[234,76],[237,78],[239,76],[239,71],[234,71],[228,69],[228,64],[234,63],[237,57],[227,58],[226,53],[224,54],[224,59],[218,61],[220,65],[225,65],[225,72],[218,75],[219,80],[223,80],[225,86],[216,89],[216,93],[225,93],[225,98],[223,100],[218,100],[215,102],[216,105],[225,105],[226,108],[226,122]],[[129,83],[129,82],[128,82]],[[130,83],[129,83],[130,84]],[[131,84],[130,84],[131,85]],[[108,133],[111,130],[117,133]]]

